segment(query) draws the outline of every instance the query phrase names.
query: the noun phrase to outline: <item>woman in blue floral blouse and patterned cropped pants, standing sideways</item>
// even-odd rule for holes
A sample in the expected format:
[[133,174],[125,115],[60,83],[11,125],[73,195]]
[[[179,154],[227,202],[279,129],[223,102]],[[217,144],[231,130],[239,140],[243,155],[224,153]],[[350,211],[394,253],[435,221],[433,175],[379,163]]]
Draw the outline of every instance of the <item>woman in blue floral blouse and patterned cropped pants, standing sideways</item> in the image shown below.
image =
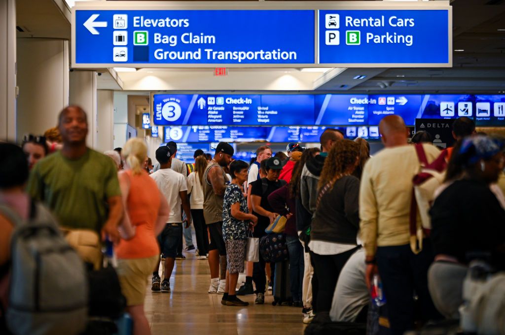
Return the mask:
[[247,201],[240,185],[247,180],[247,168],[244,161],[230,164],[231,183],[226,187],[223,202],[223,239],[226,244],[228,267],[226,271],[225,294],[221,304],[226,306],[247,306],[249,303],[237,298],[235,288],[238,274],[244,271],[245,241],[247,230],[252,229],[258,218],[248,214]]

